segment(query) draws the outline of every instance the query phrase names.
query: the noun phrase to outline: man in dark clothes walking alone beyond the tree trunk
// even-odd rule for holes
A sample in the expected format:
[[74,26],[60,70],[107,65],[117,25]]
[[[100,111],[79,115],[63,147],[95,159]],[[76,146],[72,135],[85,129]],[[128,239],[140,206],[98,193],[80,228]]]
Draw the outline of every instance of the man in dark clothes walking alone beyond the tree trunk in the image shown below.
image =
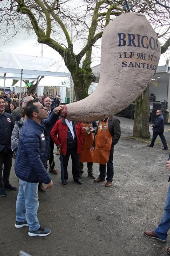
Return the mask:
[[152,129],[153,129],[153,137],[151,140],[150,144],[147,144],[148,147],[153,147],[155,140],[157,138],[157,136],[159,135],[159,137],[161,138],[162,144],[163,144],[163,148],[162,150],[167,150],[167,143],[166,143],[166,139],[165,136],[163,135],[164,132],[164,117],[162,115],[162,111],[160,109],[157,110],[157,117],[155,119],[155,123],[153,125],[151,125]]

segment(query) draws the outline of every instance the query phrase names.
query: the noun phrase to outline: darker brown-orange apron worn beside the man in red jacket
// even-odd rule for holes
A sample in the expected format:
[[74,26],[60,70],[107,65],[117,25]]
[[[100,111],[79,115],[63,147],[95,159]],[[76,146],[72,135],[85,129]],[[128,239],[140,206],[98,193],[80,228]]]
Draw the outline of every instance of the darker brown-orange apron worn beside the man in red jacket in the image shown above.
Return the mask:
[[[90,129],[90,124],[85,124],[82,123],[82,126],[88,127]],[[94,135],[93,133],[88,134],[87,132],[83,131],[84,133],[84,140],[83,140],[83,145],[82,149],[80,151],[80,157],[79,161],[84,162],[84,163],[89,163],[93,161],[93,154],[94,152],[90,152],[90,148],[92,146],[93,140],[94,140]]]

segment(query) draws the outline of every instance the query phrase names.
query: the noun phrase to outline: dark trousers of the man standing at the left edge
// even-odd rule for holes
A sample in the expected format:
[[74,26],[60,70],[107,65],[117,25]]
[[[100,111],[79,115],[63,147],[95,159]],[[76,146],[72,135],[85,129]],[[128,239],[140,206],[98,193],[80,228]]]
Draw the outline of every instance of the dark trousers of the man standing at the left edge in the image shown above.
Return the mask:
[[[3,166],[4,165],[4,166]],[[9,175],[12,166],[12,152],[0,152],[0,188],[9,184]],[[3,171],[3,172],[2,172]]]

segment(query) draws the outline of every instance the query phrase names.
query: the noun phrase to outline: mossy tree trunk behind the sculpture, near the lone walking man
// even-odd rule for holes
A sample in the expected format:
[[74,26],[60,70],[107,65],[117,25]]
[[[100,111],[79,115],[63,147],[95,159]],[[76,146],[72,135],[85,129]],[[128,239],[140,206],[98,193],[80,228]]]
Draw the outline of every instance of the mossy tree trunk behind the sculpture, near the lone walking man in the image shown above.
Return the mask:
[[150,138],[149,116],[149,86],[147,86],[145,91],[135,100],[134,137]]

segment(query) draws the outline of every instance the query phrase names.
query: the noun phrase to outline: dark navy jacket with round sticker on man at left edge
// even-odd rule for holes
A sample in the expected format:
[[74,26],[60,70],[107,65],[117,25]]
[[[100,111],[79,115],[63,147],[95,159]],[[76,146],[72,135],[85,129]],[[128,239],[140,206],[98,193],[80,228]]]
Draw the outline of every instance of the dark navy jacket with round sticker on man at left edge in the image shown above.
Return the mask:
[[11,135],[13,130],[13,117],[11,114],[0,114],[0,151],[11,150]]

